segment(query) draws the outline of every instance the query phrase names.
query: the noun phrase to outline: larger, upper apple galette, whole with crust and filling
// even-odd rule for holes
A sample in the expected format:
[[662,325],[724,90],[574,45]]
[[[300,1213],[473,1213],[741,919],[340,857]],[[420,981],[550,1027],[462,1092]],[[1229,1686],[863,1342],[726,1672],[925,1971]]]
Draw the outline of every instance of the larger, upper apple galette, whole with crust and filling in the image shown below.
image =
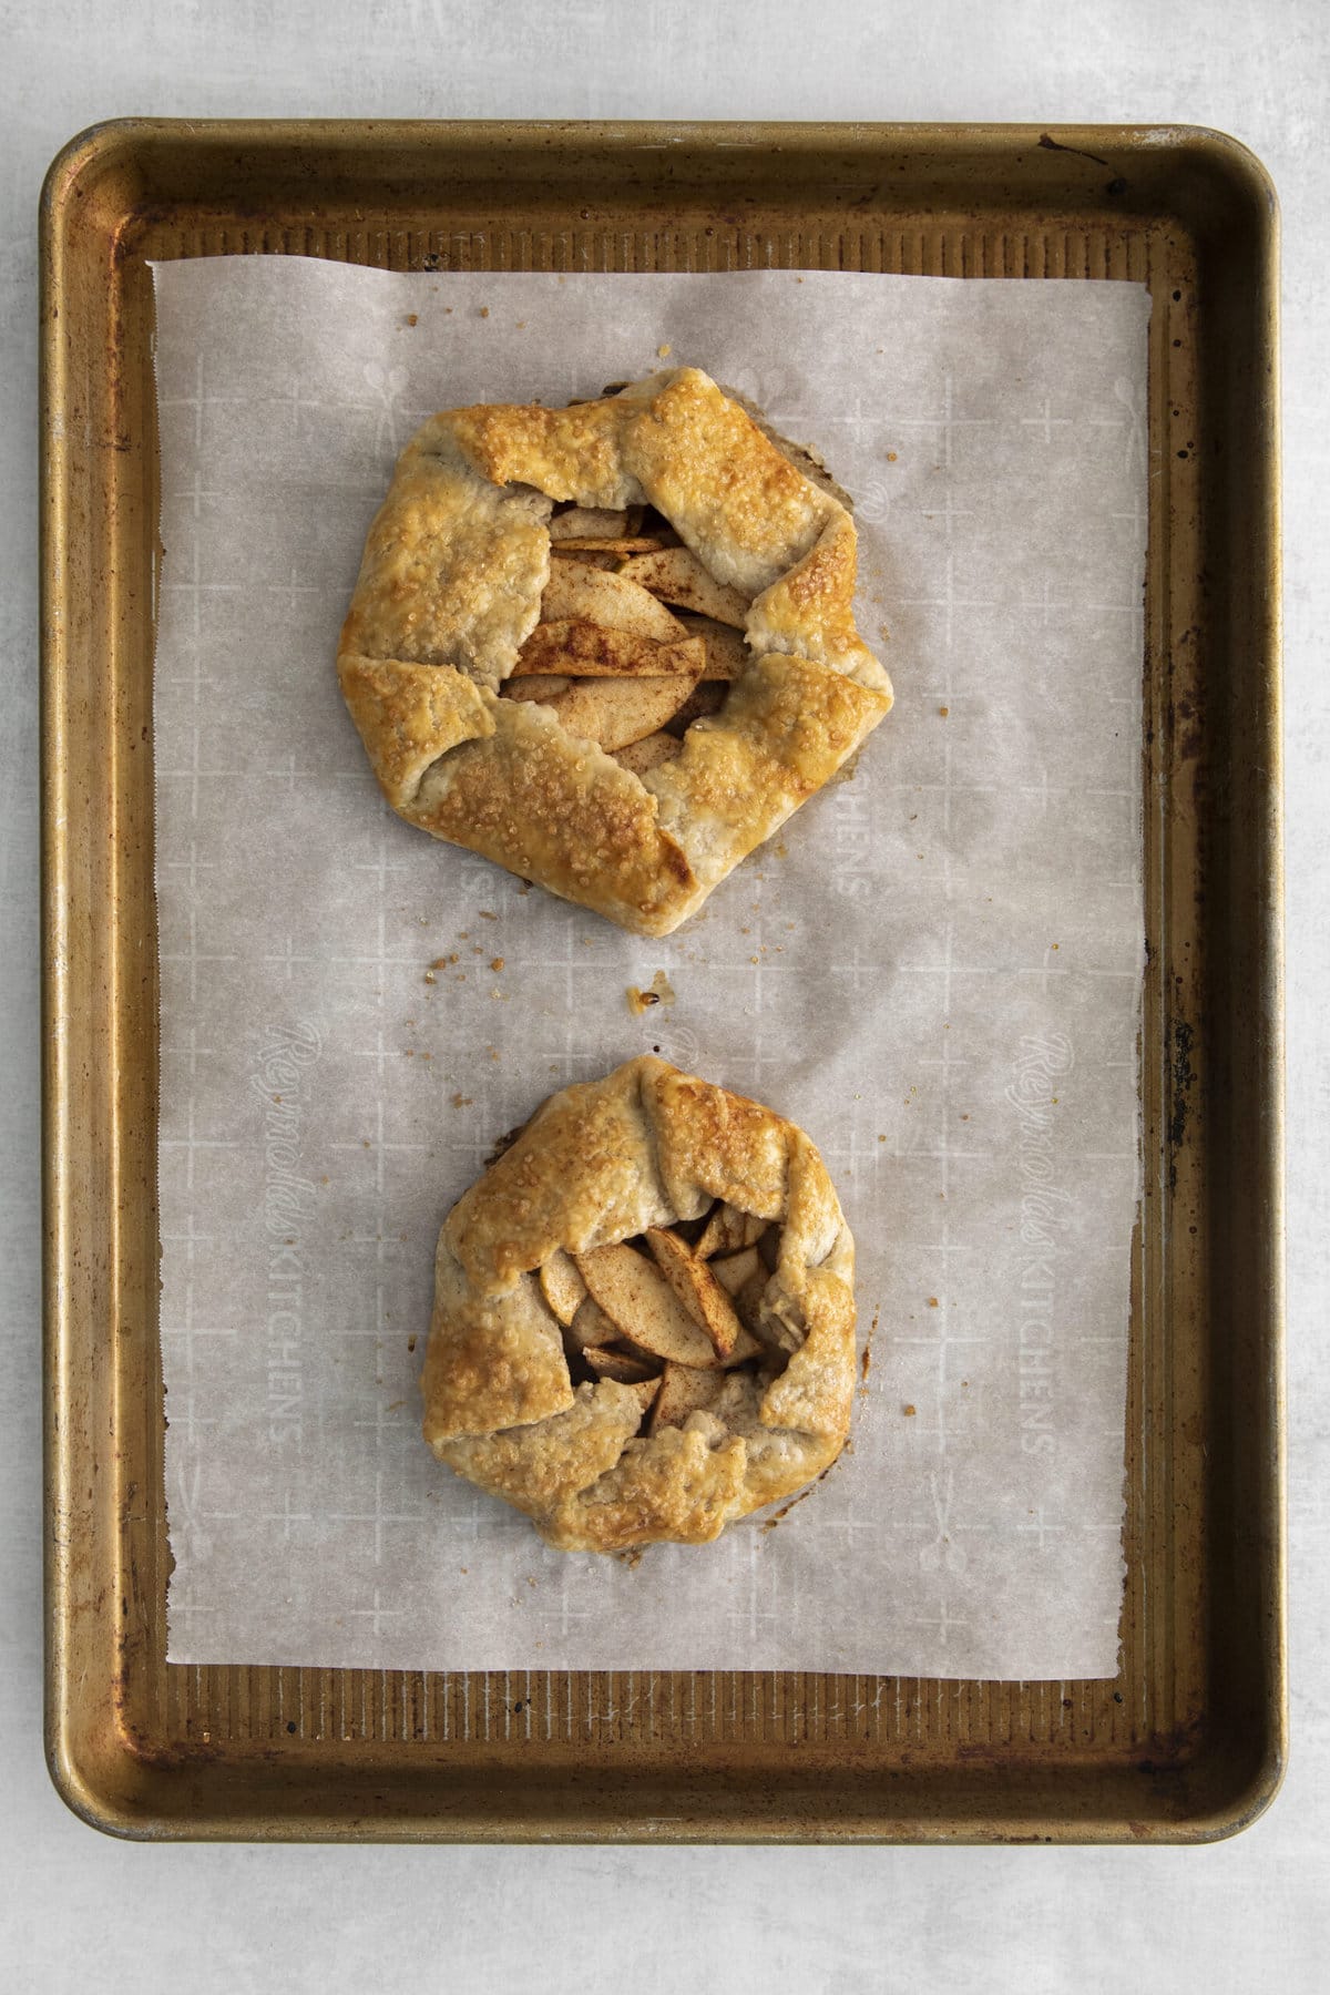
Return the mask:
[[891,686],[816,463],[694,367],[449,409],[403,451],[337,668],[393,810],[666,936]]

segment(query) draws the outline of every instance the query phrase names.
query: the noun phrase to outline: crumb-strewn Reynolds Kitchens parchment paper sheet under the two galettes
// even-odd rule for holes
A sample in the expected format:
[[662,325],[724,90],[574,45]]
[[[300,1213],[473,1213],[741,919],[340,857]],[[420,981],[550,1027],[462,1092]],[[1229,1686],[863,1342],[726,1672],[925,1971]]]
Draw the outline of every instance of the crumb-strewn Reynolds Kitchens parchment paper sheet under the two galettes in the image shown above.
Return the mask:
[[[171,1660],[1113,1674],[1145,289],[295,257],[156,287]],[[333,654],[431,411],[680,361],[855,495],[897,706],[638,942],[393,818]],[[658,972],[674,1001],[634,1017]],[[495,1139],[644,1047],[820,1143],[871,1367],[778,1528],[628,1568],[435,1464],[415,1377],[437,1227]]]

